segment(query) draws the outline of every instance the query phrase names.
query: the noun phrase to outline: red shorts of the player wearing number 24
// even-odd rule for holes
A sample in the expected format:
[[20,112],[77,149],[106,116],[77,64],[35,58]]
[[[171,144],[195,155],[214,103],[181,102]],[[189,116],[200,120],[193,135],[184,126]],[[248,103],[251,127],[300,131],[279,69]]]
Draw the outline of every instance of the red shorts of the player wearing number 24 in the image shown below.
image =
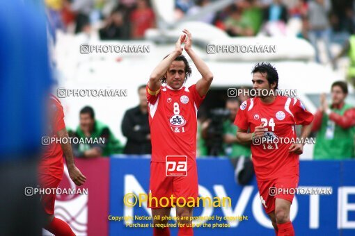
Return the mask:
[[299,184],[299,176],[258,180],[257,182],[262,206],[265,212],[269,214],[275,210],[275,199],[285,199],[292,203],[294,189]]

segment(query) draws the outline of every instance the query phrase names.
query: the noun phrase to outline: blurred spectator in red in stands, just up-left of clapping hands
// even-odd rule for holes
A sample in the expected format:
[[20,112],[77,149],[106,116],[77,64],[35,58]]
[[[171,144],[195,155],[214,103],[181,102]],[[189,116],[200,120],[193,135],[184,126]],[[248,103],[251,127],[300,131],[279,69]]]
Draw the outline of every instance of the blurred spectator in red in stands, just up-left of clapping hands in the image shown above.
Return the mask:
[[143,39],[148,28],[155,28],[155,15],[148,0],[137,0],[130,15],[132,39]]

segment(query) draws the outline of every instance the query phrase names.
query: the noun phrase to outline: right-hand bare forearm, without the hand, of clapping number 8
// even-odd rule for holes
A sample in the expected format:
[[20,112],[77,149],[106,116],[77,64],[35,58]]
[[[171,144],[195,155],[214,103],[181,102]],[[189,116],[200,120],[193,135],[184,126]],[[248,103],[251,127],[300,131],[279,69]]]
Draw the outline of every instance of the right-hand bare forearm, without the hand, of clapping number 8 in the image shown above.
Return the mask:
[[185,49],[189,54],[191,60],[196,65],[196,68],[200,72],[202,78],[196,83],[196,90],[200,96],[205,96],[210,89],[213,74],[208,68],[207,64],[195,53],[193,49]]

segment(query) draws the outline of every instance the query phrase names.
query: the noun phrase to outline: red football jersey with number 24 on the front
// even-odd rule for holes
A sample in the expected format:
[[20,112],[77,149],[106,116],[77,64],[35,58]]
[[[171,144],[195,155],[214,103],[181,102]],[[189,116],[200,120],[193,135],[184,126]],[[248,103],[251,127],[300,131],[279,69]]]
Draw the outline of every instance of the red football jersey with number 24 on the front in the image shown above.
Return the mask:
[[[265,126],[264,137],[282,137],[296,140],[295,125],[308,125],[313,115],[301,101],[287,96],[276,96],[274,102],[262,103],[259,98],[248,99],[240,106],[234,124],[243,130]],[[281,140],[281,139],[280,139]],[[299,155],[288,150],[291,143],[251,144],[251,155],[258,180],[271,180],[280,176],[299,175]]]

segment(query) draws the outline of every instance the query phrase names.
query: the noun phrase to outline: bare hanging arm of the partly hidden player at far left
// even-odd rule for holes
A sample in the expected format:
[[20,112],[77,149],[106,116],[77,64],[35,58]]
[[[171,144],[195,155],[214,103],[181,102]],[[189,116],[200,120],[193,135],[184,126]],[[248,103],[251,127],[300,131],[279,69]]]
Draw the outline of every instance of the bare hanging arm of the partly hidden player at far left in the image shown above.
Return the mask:
[[[57,135],[60,140],[68,139],[68,132],[65,128],[62,128],[61,130],[58,130]],[[61,144],[63,153],[65,155],[65,162],[67,163],[68,167],[68,172],[70,178],[73,180],[73,182],[80,186],[85,183],[86,177],[81,174],[79,169],[75,166],[74,164],[74,157],[72,155],[72,146],[69,142],[65,142]]]

